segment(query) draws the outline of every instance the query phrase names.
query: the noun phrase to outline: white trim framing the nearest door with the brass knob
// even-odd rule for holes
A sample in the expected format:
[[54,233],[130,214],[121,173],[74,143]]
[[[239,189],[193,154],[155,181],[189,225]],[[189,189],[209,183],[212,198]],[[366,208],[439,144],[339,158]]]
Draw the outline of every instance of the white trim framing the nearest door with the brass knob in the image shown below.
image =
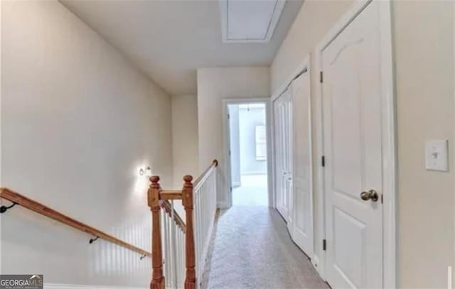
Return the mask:
[[[350,9],[326,34],[326,37],[316,46],[315,69],[322,71],[322,52],[328,45],[348,26],[365,7],[378,0],[355,0]],[[392,54],[392,17],[390,0],[378,1],[380,10],[380,51],[381,51],[381,80],[382,80],[382,185],[384,196],[382,211],[382,285],[383,288],[397,288],[397,143],[396,143],[396,101],[395,101],[395,78]],[[322,84],[316,85],[316,152],[317,157],[324,154],[323,151],[323,107],[322,107]],[[321,220],[317,230],[321,244],[326,238],[326,208],[325,189],[323,180],[323,168],[319,169],[319,190],[316,192],[318,200],[317,218]],[[326,253],[321,251],[319,260],[319,273],[322,278],[326,276]]]

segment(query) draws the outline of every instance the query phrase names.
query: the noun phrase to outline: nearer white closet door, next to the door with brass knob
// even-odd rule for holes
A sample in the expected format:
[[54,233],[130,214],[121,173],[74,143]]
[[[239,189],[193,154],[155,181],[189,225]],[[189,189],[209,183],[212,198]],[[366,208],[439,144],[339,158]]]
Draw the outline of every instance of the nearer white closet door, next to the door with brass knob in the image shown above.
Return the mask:
[[313,256],[313,196],[311,167],[311,99],[309,72],[291,84],[294,134],[294,193],[289,202],[294,216],[292,239],[308,256]]

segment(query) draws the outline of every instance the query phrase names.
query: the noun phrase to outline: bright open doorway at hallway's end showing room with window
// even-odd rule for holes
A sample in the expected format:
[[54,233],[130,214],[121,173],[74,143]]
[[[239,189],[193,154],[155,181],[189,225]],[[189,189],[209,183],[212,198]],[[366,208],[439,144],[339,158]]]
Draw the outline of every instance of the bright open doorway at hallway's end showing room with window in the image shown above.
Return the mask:
[[228,104],[232,205],[268,206],[267,104]]

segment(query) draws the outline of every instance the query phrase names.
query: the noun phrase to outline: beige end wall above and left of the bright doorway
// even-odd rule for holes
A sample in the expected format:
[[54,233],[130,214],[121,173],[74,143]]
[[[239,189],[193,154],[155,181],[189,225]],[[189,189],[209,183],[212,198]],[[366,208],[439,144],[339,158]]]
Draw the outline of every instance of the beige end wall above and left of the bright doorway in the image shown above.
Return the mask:
[[270,97],[268,67],[198,69],[199,168],[220,162],[218,203],[226,203],[228,182],[223,156],[223,99]]

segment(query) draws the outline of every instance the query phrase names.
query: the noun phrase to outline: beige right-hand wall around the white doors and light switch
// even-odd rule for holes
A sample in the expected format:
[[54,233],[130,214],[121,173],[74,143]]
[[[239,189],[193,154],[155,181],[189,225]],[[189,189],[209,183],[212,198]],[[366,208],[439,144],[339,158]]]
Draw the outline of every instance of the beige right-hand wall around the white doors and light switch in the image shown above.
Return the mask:
[[[314,48],[350,4],[352,1],[304,2],[272,63],[272,94],[279,93],[309,53],[312,53],[311,65],[314,67]],[[427,139],[448,138],[450,154],[454,155],[453,5],[451,1],[392,2],[397,82],[400,288],[446,287],[447,266],[454,264],[453,157],[451,173],[424,169],[424,142]],[[319,81],[317,73],[311,71],[313,97]],[[316,124],[316,119],[313,121]],[[314,163],[314,168],[316,165],[319,163]],[[317,178],[315,170],[314,180]],[[315,189],[319,190],[318,187]],[[320,252],[316,251],[316,254]]]

